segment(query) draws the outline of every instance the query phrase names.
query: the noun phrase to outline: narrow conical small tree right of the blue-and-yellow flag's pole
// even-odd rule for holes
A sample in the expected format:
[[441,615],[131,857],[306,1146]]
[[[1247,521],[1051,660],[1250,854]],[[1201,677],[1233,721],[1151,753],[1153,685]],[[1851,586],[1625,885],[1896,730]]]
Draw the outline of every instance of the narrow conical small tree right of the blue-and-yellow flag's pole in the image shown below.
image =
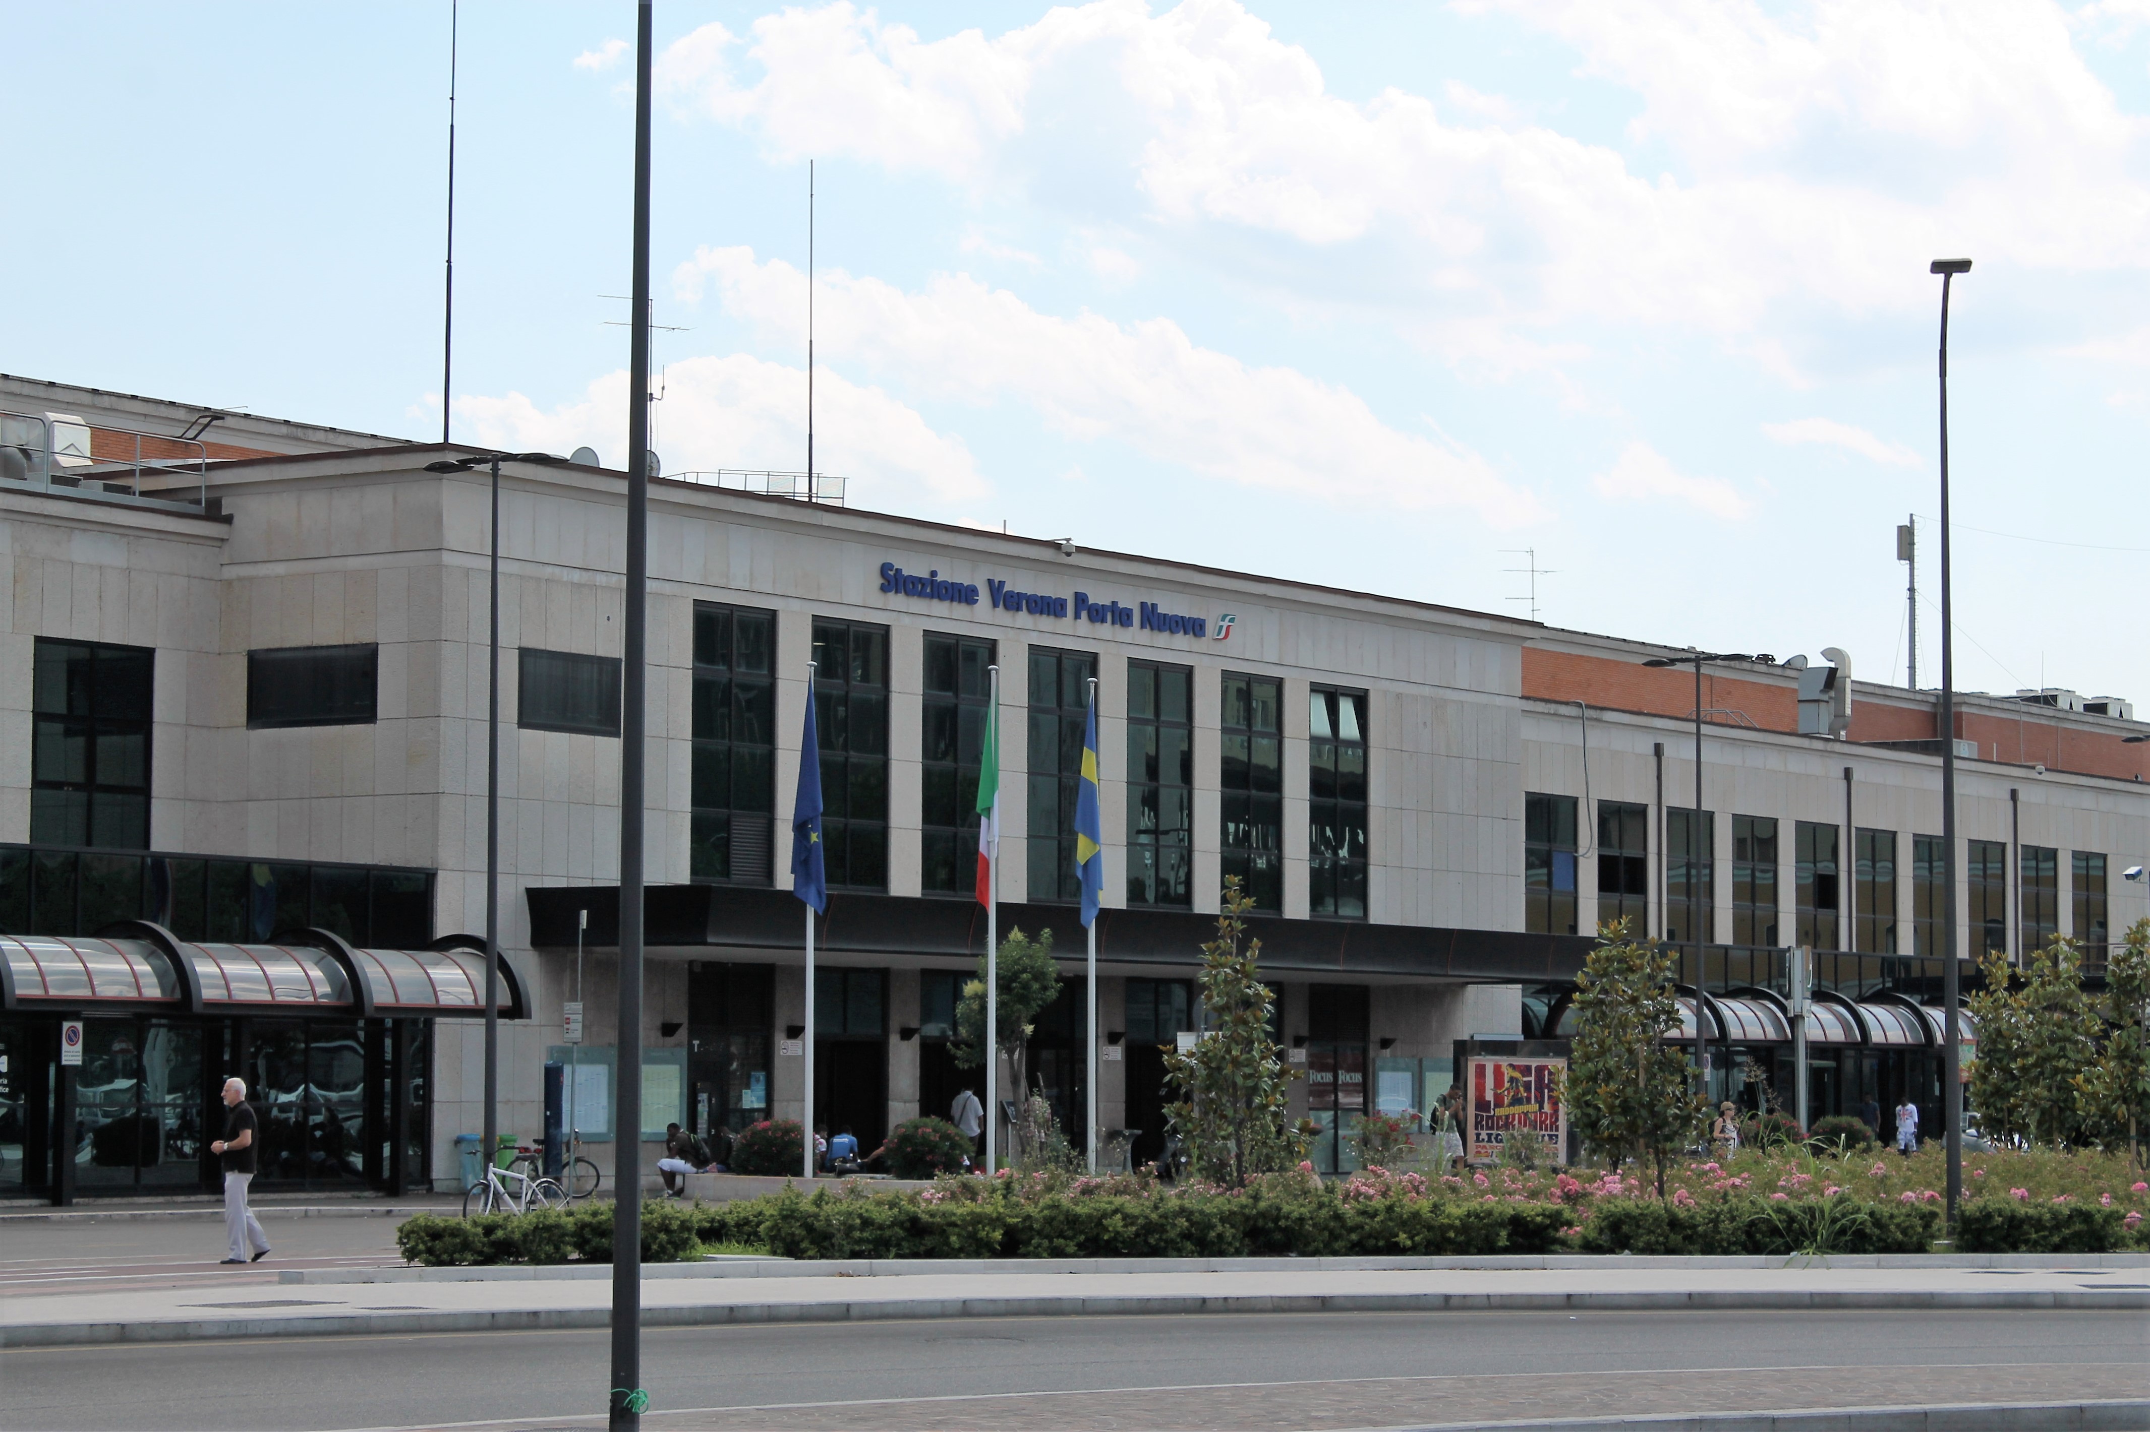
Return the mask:
[[1208,1028],[1193,1049],[1165,1051],[1165,1086],[1178,1101],[1165,1109],[1198,1178],[1241,1189],[1256,1174],[1277,1174],[1305,1159],[1307,1142],[1292,1127],[1286,1101],[1299,1071],[1286,1069],[1268,1030],[1275,996],[1258,974],[1260,940],[1249,940],[1245,914],[1253,899],[1238,877],[1223,882],[1217,937],[1202,946],[1202,1013]]

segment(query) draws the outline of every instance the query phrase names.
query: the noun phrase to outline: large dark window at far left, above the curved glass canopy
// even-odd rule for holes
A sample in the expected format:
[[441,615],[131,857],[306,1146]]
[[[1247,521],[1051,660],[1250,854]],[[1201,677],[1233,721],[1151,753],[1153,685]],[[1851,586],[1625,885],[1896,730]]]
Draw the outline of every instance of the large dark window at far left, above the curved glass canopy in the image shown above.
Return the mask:
[[150,647],[37,639],[30,839],[148,849]]

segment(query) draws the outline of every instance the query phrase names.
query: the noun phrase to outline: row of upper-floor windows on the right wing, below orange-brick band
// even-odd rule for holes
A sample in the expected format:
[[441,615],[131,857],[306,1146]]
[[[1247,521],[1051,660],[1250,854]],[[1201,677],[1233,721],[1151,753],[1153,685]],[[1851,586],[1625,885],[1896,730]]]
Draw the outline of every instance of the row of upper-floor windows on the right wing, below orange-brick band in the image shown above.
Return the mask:
[[[1718,942],[1716,813],[1671,806],[1666,824],[1664,937]],[[1524,796],[1524,929],[1574,935],[1576,918],[1576,798]],[[1849,948],[1860,955],[1939,955],[1944,867],[1939,836],[1911,836],[1911,918],[1898,914],[1898,845],[1894,830],[1860,826],[1853,832],[1849,910],[1843,903],[1843,830],[1821,821],[1793,821],[1791,940],[1782,937],[1778,901],[1778,821],[1769,815],[1733,817],[1731,944],[1804,944],[1817,950]],[[1696,839],[1698,836],[1698,839]],[[1696,858],[1696,854],[1701,858]],[[2008,948],[2008,845],[1969,841],[1965,875],[1972,901],[1972,953]],[[2060,933],[2060,851],[2023,845],[2021,948],[2034,950]],[[2105,856],[2068,851],[2068,897],[2083,944],[2109,937]],[[1597,922],[1630,920],[1645,933],[1649,901],[1649,806],[1597,802]],[[1909,925],[1909,929],[1905,929]],[[1843,940],[1851,937],[1847,946]],[[1909,944],[1909,948],[1905,948]]]

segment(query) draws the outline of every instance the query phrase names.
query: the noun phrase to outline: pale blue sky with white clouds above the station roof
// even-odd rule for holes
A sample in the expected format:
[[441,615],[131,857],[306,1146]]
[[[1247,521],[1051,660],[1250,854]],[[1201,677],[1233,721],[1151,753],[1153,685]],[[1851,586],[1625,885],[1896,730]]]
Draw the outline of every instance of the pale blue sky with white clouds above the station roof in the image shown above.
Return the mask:
[[[447,0],[19,6],[0,370],[441,432]],[[664,471],[2150,712],[2150,0],[656,6]],[[458,441],[624,464],[634,6],[462,0]],[[39,196],[43,202],[26,202]],[[1535,583],[1529,574],[1537,568]]]

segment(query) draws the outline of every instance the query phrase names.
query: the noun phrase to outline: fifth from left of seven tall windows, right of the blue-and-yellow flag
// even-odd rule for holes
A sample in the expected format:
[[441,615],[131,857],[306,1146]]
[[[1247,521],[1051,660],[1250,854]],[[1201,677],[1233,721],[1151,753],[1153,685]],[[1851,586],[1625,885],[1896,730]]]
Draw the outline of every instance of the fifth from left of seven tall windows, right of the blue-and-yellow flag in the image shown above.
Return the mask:
[[1191,667],[1127,662],[1127,903],[1193,894],[1195,753]]

